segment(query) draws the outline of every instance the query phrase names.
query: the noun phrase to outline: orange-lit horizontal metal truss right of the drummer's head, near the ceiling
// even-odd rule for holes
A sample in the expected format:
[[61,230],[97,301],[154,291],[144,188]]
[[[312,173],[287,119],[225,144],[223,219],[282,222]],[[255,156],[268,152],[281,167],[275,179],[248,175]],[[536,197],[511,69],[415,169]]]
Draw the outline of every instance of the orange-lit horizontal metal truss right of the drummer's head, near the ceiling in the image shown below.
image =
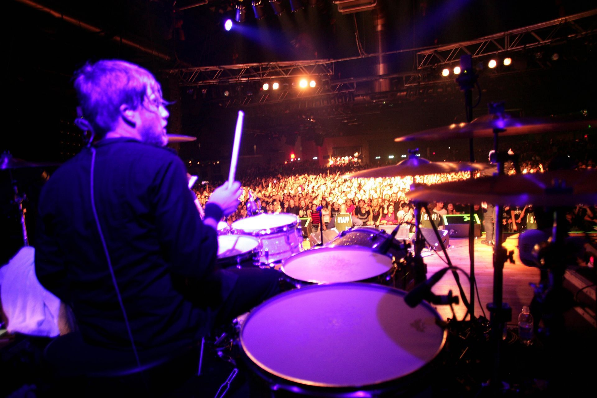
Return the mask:
[[285,79],[299,76],[333,76],[334,61],[311,60],[202,66],[173,69],[170,73],[177,73],[179,75],[181,86],[192,87]]

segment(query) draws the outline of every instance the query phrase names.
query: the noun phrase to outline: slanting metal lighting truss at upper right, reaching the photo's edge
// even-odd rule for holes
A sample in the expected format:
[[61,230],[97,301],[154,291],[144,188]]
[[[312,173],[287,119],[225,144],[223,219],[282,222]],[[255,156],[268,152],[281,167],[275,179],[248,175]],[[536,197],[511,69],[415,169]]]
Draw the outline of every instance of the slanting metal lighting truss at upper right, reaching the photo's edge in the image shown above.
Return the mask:
[[552,21],[485,36],[472,41],[417,52],[417,69],[454,63],[460,55],[475,57],[511,53],[597,33],[597,9]]

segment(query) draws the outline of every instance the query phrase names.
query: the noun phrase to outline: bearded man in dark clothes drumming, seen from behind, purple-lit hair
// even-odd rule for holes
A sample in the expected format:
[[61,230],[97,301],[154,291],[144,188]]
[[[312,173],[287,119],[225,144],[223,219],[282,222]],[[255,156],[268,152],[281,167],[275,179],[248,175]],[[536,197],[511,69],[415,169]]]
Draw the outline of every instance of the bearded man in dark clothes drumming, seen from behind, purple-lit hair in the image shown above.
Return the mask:
[[[153,75],[101,60],[76,72],[75,89],[76,124],[93,135],[42,191],[35,263],[85,343],[172,352],[275,295],[276,271],[215,269],[217,221],[240,184],[214,190],[201,220],[183,162],[164,148],[168,102]],[[181,279],[196,280],[192,295]]]

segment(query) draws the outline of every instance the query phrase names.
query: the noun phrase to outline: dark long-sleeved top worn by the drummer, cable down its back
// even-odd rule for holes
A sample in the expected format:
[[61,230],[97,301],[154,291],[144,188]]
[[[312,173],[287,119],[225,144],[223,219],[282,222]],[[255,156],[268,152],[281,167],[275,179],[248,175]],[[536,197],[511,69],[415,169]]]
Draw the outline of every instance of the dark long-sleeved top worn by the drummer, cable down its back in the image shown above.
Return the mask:
[[[184,347],[207,334],[210,313],[185,300],[173,279],[204,280],[213,271],[216,231],[199,217],[174,153],[130,138],[94,147],[95,208],[135,344]],[[91,149],[83,149],[44,186],[36,275],[72,306],[85,341],[129,348],[91,206],[91,159]]]

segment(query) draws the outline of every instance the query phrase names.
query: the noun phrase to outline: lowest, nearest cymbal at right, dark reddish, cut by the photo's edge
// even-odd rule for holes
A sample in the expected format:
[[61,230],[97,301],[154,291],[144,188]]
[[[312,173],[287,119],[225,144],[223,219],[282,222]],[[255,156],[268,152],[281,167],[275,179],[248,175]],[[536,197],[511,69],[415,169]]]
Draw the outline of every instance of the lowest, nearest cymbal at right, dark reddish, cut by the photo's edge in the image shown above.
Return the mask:
[[413,184],[409,199],[422,202],[494,205],[574,206],[597,202],[597,169],[560,170],[534,174],[493,175],[426,186]]

